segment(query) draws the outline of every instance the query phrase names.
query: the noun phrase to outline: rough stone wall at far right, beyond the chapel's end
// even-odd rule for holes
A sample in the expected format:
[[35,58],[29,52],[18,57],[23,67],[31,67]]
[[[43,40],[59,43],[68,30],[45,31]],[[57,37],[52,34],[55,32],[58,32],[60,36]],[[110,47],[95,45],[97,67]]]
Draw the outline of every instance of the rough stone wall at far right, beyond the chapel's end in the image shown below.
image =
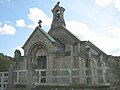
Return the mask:
[[120,88],[120,57],[109,56],[109,82],[111,90]]

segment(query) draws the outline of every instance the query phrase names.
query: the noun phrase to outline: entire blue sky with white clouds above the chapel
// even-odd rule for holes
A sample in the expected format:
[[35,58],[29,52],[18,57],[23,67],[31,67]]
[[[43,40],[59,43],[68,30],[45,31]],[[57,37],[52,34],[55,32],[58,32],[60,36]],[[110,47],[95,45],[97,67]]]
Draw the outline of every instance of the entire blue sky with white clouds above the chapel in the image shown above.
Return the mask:
[[[66,27],[108,55],[120,56],[120,0],[59,0]],[[58,0],[0,0],[0,53],[14,55],[42,20],[48,32]],[[22,50],[21,50],[22,51]],[[23,53],[23,51],[22,51]]]

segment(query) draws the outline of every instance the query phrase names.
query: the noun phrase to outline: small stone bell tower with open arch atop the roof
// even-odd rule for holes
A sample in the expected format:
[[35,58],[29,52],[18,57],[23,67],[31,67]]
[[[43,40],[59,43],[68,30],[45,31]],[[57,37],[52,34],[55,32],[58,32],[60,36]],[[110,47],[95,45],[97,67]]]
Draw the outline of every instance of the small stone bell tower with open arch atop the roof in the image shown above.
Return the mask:
[[63,7],[59,6],[60,2],[58,2],[55,7],[52,9],[53,13],[53,21],[51,24],[51,28],[57,27],[57,26],[66,26],[64,21],[64,11],[65,9]]

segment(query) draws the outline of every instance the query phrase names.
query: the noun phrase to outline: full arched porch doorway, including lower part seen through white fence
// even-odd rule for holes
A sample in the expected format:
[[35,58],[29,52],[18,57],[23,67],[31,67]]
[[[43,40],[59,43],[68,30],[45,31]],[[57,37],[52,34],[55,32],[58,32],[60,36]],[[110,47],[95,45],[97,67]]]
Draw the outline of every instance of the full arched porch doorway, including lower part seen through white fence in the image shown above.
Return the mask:
[[47,69],[47,48],[44,43],[35,43],[30,49],[30,60],[32,63],[32,69],[35,70],[35,75],[37,76],[37,83],[46,83],[46,69]]

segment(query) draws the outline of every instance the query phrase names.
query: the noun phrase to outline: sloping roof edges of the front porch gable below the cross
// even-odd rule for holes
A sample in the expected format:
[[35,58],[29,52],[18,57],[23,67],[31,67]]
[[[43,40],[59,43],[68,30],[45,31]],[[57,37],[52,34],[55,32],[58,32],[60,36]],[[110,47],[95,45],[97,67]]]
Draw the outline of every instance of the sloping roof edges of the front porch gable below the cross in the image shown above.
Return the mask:
[[59,44],[57,41],[55,41],[48,33],[46,33],[42,28],[40,28],[39,26],[37,26],[36,28],[35,28],[35,30],[33,31],[33,33],[30,35],[30,37],[27,39],[27,41],[25,42],[25,44],[23,45],[23,49],[24,49],[24,47],[26,46],[26,44],[28,43],[28,41],[31,39],[31,37],[33,36],[33,34],[37,31],[37,30],[39,30],[40,32],[42,32],[45,36],[46,36],[46,38],[48,38],[48,40],[50,40],[50,42],[51,43],[56,43],[56,44]]

